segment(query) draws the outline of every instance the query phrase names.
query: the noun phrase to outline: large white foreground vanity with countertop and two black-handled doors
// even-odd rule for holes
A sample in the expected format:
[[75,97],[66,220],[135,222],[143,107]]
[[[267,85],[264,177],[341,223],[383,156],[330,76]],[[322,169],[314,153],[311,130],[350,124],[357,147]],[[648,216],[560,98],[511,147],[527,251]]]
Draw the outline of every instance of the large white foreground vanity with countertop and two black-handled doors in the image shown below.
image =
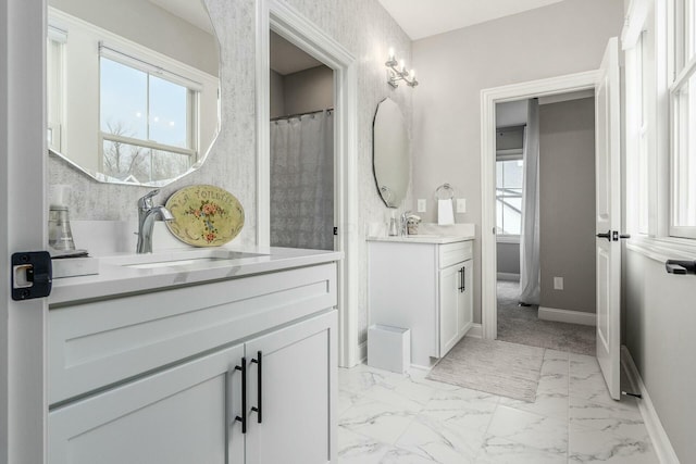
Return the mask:
[[115,255],[49,300],[49,463],[336,459],[336,261]]

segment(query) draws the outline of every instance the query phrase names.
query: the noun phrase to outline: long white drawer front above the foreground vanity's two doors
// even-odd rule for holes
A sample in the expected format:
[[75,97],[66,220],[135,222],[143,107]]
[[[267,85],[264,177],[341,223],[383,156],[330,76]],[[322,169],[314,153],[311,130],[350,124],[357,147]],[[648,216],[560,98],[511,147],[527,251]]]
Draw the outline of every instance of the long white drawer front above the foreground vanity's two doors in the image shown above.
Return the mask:
[[336,305],[323,264],[49,311],[49,404]]

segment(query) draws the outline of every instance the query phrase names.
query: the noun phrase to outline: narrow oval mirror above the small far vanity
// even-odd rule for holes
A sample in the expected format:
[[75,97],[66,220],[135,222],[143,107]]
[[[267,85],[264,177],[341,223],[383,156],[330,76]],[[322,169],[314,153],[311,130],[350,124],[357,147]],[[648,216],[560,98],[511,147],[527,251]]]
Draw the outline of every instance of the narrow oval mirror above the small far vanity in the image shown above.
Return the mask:
[[374,179],[384,203],[399,208],[409,187],[411,149],[399,105],[386,98],[377,105],[372,126]]

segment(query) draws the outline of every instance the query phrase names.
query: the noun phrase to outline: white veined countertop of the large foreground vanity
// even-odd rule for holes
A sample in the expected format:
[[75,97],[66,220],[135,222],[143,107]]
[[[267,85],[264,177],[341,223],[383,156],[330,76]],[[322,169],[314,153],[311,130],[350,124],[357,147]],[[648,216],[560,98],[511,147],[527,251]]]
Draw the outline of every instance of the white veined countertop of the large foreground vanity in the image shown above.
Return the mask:
[[172,249],[99,256],[99,274],[57,278],[49,305],[331,263],[337,251],[245,247]]

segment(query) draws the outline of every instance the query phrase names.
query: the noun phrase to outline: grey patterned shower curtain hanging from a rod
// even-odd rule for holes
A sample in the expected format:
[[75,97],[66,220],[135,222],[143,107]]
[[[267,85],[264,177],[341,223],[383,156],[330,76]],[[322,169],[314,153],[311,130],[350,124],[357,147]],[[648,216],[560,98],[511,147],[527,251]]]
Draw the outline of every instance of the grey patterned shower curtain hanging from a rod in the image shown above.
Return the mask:
[[334,249],[333,111],[271,122],[271,246]]

